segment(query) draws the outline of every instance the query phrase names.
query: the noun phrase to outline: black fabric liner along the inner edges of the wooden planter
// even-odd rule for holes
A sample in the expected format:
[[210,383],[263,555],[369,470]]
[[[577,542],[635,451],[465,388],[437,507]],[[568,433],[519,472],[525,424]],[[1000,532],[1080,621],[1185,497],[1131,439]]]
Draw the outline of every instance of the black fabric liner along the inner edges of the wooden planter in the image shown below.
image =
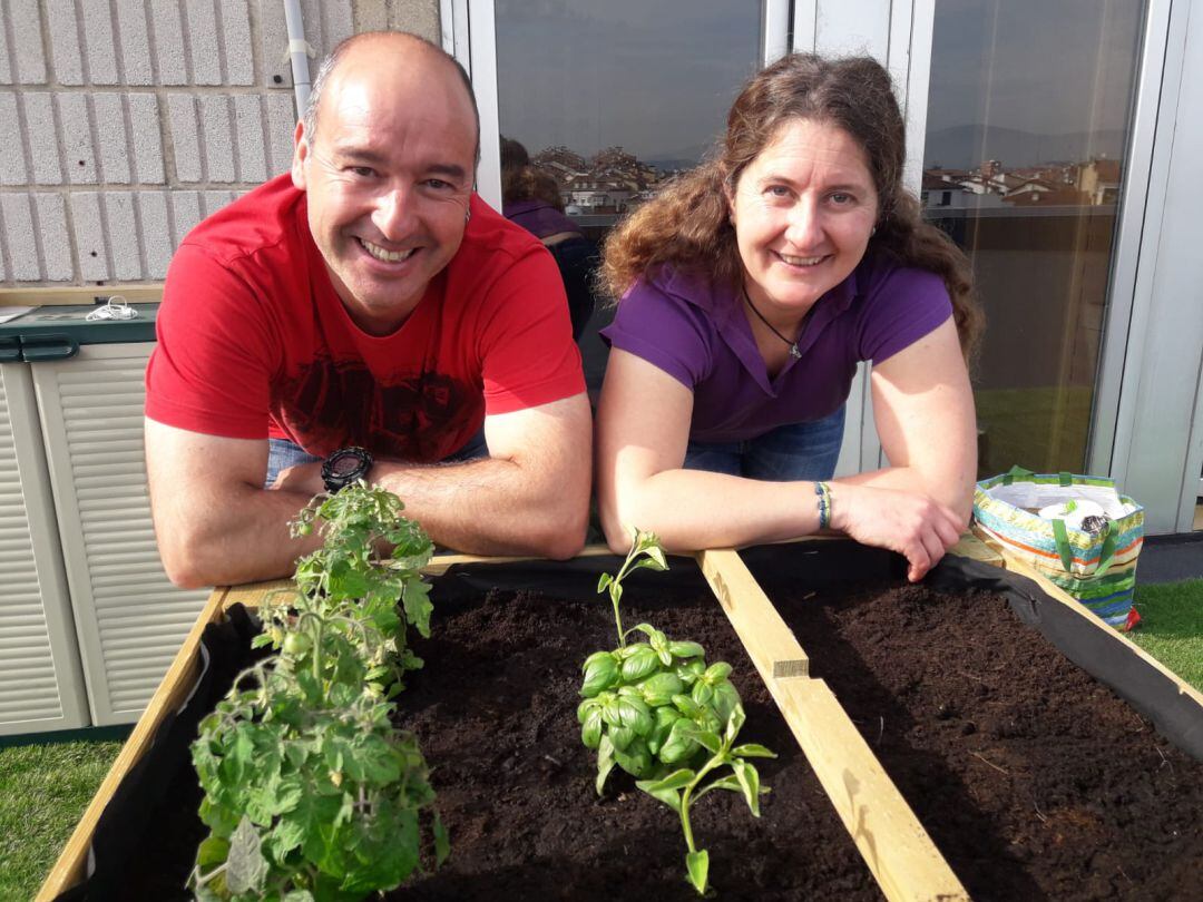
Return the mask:
[[[770,598],[774,587],[787,584],[795,593],[806,588],[855,588],[901,578],[905,574],[901,557],[852,541],[757,546],[740,553]],[[585,598],[595,594],[603,572],[616,572],[621,564],[622,558],[612,554],[568,562],[456,564],[432,578],[431,600],[438,610],[439,605],[455,606],[491,589]],[[691,558],[670,557],[669,564],[668,572],[635,571],[628,584],[678,598],[710,591]],[[1069,660],[1127,700],[1175,746],[1203,761],[1203,706],[1133,654],[1109,628],[1091,629],[1031,580],[982,562],[946,556],[925,581],[941,592],[977,588],[1006,597],[1020,621],[1039,630]],[[598,604],[608,605],[609,601],[598,597]],[[188,756],[197,724],[225,695],[232,676],[251,660],[251,655],[266,654],[266,651],[250,649],[257,628],[254,616],[242,605],[231,606],[223,622],[206,627],[201,640],[201,673],[190,695],[160,725],[147,753],[126,775],[100,817],[88,851],[87,878],[63,892],[59,900],[123,898],[126,862],[138,854],[149,815],[180,759]],[[917,641],[921,637],[917,636]]]

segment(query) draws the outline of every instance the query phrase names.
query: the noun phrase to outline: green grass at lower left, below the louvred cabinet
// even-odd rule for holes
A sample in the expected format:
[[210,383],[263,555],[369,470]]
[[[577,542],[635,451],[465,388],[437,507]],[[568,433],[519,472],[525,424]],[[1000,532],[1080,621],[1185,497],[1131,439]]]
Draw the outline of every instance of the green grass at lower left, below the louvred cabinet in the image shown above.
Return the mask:
[[119,741],[0,748],[0,900],[34,897],[120,749]]

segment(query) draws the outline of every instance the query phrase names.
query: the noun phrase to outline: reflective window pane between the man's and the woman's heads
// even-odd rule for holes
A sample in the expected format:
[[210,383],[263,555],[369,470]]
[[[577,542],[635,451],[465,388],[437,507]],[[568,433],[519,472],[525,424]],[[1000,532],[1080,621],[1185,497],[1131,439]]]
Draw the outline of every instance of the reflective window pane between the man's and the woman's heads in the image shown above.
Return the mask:
[[[739,87],[757,70],[760,8],[729,0],[497,0],[494,29],[503,206],[557,256],[575,309],[574,285],[586,284],[580,269],[597,261],[586,242],[595,247],[722,132]],[[583,242],[558,237],[573,232]],[[605,367],[595,333],[608,319],[598,303],[581,338],[593,392]]]

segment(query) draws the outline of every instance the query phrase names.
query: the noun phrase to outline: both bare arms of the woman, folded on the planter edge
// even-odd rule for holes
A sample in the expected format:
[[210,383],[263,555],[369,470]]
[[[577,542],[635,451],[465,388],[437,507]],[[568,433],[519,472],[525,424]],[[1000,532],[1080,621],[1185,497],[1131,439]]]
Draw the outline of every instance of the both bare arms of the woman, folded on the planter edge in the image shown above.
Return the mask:
[[[831,483],[831,526],[906,556],[911,580],[921,578],[956,542],[972,492],[972,396],[955,332],[953,360],[961,380],[946,372],[952,364],[941,351],[946,337],[937,333],[943,328],[894,355],[875,374],[878,429],[899,465]],[[597,414],[595,486],[615,552],[628,548],[632,527],[658,533],[670,551],[782,541],[818,530],[813,482],[681,469],[692,414],[693,393],[681,382],[632,354],[610,352]],[[954,510],[962,502],[964,515]]]

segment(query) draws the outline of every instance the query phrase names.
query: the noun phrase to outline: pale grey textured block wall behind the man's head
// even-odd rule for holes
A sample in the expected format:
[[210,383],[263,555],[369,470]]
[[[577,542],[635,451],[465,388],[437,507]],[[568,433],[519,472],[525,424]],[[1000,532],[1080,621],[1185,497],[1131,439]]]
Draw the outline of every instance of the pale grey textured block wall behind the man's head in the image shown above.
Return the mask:
[[[439,0],[302,0],[310,69]],[[203,216],[288,171],[283,0],[0,2],[0,287],[164,278]]]

